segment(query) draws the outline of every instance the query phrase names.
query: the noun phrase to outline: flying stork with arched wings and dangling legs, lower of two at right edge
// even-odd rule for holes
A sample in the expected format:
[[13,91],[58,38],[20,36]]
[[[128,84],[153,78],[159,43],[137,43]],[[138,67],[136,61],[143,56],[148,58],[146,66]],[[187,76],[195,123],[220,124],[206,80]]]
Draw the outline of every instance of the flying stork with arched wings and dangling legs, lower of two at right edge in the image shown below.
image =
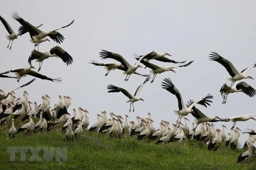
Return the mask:
[[237,83],[237,85],[229,87],[226,83],[223,84],[223,86],[220,89],[220,94],[223,99],[223,103],[225,104],[227,102],[228,94],[234,93],[234,92],[244,92],[244,94],[247,94],[249,97],[253,97],[256,94],[256,90],[253,89],[248,83],[241,81],[240,83]]

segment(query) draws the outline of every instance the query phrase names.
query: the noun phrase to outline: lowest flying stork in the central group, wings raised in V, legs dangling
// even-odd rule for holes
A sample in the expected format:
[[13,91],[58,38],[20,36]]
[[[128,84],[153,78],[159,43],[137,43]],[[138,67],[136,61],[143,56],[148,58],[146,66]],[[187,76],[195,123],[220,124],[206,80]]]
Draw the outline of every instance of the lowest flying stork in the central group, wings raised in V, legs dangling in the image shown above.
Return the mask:
[[147,81],[150,80],[150,76],[148,76],[146,78],[146,80],[138,87],[138,89],[136,90],[134,96],[132,96],[127,90],[121,88],[121,87],[116,87],[115,85],[108,85],[107,89],[109,89],[108,92],[122,92],[125,96],[127,96],[129,98],[129,101],[127,101],[126,103],[130,103],[130,110],[129,112],[131,111],[131,105],[132,105],[132,108],[133,108],[133,112],[134,112],[134,105],[133,103],[136,102],[136,101],[144,101],[139,95],[140,95],[140,91],[143,87],[143,85],[145,83],[147,83]]

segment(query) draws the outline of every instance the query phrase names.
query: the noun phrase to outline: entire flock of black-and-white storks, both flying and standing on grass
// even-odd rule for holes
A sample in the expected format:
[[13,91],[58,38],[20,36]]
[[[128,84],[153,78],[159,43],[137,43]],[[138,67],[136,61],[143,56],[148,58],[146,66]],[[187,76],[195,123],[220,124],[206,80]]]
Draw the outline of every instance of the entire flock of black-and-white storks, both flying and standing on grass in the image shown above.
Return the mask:
[[[20,78],[28,74],[30,76],[34,76],[42,80],[60,82],[61,78],[49,78],[44,74],[38,73],[42,68],[44,60],[48,59],[49,57],[59,57],[63,60],[63,62],[69,65],[72,64],[73,58],[60,46],[54,46],[48,52],[39,52],[39,45],[44,41],[49,41],[47,37],[53,39],[54,41],[56,41],[56,43],[62,43],[65,38],[62,34],[60,34],[60,32],[58,32],[58,30],[72,25],[74,23],[74,20],[70,22],[70,24],[60,27],[58,29],[53,29],[51,31],[41,31],[38,27],[40,27],[42,24],[39,25],[38,27],[35,27],[34,25],[30,24],[22,17],[20,17],[20,15],[17,12],[13,13],[12,18],[17,20],[21,24],[18,33],[13,31],[12,27],[10,27],[8,22],[6,22],[6,20],[4,20],[4,18],[0,16],[1,22],[3,23],[4,27],[10,34],[6,36],[6,38],[9,40],[7,48],[9,48],[10,46],[11,49],[13,40],[28,32],[31,37],[31,43],[34,43],[35,48],[37,46],[38,50],[35,50],[34,48],[34,50],[31,51],[28,59],[28,67],[10,69],[9,71],[0,73],[0,78],[15,78],[19,82]],[[150,75],[140,74],[136,72],[138,67],[142,67],[140,64],[143,64],[145,68],[150,68],[150,73],[153,74],[151,83],[153,83],[157,74],[163,73],[164,71],[175,72],[173,70],[174,68],[187,67],[193,62],[193,60],[186,64],[186,61],[177,62],[166,57],[166,55],[171,56],[169,53],[161,54],[154,51],[147,53],[145,55],[137,55],[136,53],[134,53],[135,59],[137,60],[135,64],[130,64],[129,62],[127,62],[127,60],[124,59],[124,57],[122,57],[122,55],[118,53],[109,52],[107,50],[102,50],[99,53],[99,55],[101,59],[114,59],[117,61],[99,63],[95,60],[92,60],[91,62],[89,62],[90,64],[93,64],[95,66],[104,66],[107,70],[105,76],[107,76],[111,70],[120,69],[124,71],[124,74],[126,74],[124,79],[125,81],[129,80],[131,74],[137,74],[139,76],[145,77],[145,80],[143,81],[143,83],[141,83],[141,85],[139,85],[138,89],[134,93],[134,96],[132,96],[132,94],[130,94],[127,90],[125,90],[122,87],[118,87],[113,84],[109,84],[107,86],[108,92],[122,92],[125,96],[129,98],[129,100],[127,101],[127,103],[130,103],[129,112],[131,110],[134,111],[135,102],[144,101],[140,97],[140,91],[143,85],[145,85],[145,83],[147,83],[151,78]],[[253,64],[252,66],[247,67],[243,71],[239,72],[230,61],[221,57],[221,55],[219,55],[216,52],[211,52],[209,59],[216,61],[220,63],[222,66],[224,66],[231,76],[231,78],[228,79],[232,82],[231,85],[228,86],[227,83],[225,83],[220,89],[221,96],[223,97],[223,104],[227,102],[227,96],[230,93],[243,92],[249,97],[255,96],[256,90],[253,89],[253,87],[251,87],[250,85],[248,85],[248,83],[246,83],[245,81],[241,81],[236,85],[234,85],[234,83],[236,81],[243,80],[246,78],[253,79],[252,76],[247,76],[246,73],[250,69],[255,67],[256,64]],[[35,67],[32,66],[32,60],[39,62],[38,71],[33,71]],[[180,65],[170,67],[157,66],[156,64],[151,63],[150,60],[171,62]],[[16,76],[6,75],[8,73],[15,73]],[[68,107],[71,104],[71,98],[69,96],[59,96],[59,102],[54,104],[54,108],[52,109],[50,106],[51,98],[48,95],[42,96],[42,103],[39,105],[36,102],[31,103],[31,101],[28,100],[28,93],[25,90],[23,97],[15,99],[16,97],[14,91],[22,87],[28,86],[29,84],[33,83],[33,81],[35,81],[35,78],[29,81],[28,83],[25,83],[24,85],[21,85],[20,87],[11,90],[10,92],[5,93],[3,90],[0,90],[1,124],[5,123],[6,125],[8,125],[8,120],[10,120],[10,117],[14,115],[14,117],[12,118],[12,127],[9,130],[9,136],[11,139],[14,138],[18,132],[25,132],[25,135],[28,137],[33,132],[52,131],[56,124],[58,124],[62,126],[62,131],[66,133],[67,141],[70,144],[72,144],[74,136],[77,139],[81,138],[81,136],[83,135],[83,131],[96,131],[100,133],[108,133],[111,136],[111,138],[122,138],[122,136],[125,133],[128,133],[131,136],[137,134],[138,140],[148,139],[148,141],[153,141],[157,139],[157,144],[169,143],[172,141],[182,141],[184,139],[197,139],[198,141],[204,141],[204,143],[207,143],[208,149],[214,151],[216,151],[220,147],[221,142],[225,142],[226,146],[230,145],[230,147],[234,150],[238,148],[238,138],[240,136],[239,131],[241,131],[238,127],[236,127],[236,122],[246,121],[250,119],[256,120],[253,117],[256,114],[239,115],[237,117],[232,118],[220,118],[218,116],[208,117],[207,115],[204,115],[202,111],[198,110],[196,106],[210,106],[210,103],[212,103],[211,99],[213,98],[211,94],[207,94],[207,96],[196,101],[189,99],[188,103],[184,103],[181,93],[179,92],[177,87],[175,87],[170,78],[164,78],[161,84],[162,88],[172,93],[174,96],[177,97],[178,100],[179,110],[175,110],[174,113],[177,114],[179,117],[175,124],[172,124],[172,128],[169,127],[170,123],[168,121],[161,120],[161,122],[159,123],[160,128],[158,130],[155,130],[153,125],[154,120],[151,117],[150,113],[148,113],[147,118],[136,117],[137,123],[134,123],[134,121],[128,121],[128,115],[125,115],[124,122],[122,121],[123,118],[121,115],[115,115],[114,113],[109,113],[111,118],[108,118],[106,111],[102,111],[101,115],[97,114],[97,122],[92,124],[89,128],[89,118],[87,115],[87,110],[83,110],[83,108],[79,107],[79,113],[76,113],[75,108],[73,108],[73,115],[71,115],[68,112]],[[34,109],[31,107],[31,104],[34,104]],[[189,129],[187,124],[188,118],[186,118],[186,116],[189,113],[193,115],[193,117],[195,117],[193,129]],[[19,129],[16,129],[15,119],[17,118],[20,118],[22,122],[26,122],[27,120],[29,120],[29,122],[21,125]],[[36,124],[34,123],[33,118],[39,118]],[[182,118],[184,119],[184,124],[182,124],[181,122]],[[234,124],[230,129],[230,132],[228,132],[228,136],[226,136],[225,134],[225,125],[222,125],[223,129],[220,130],[218,128],[215,129],[214,124],[212,123],[230,121],[234,122]],[[201,125],[200,130],[196,131],[196,127],[199,124]],[[247,162],[248,159],[252,156],[252,154],[255,153],[255,147],[253,146],[253,143],[256,140],[256,133],[250,129],[243,133],[250,134],[248,140],[246,141],[246,143],[244,143],[244,147],[248,148],[248,150],[239,155],[237,163],[241,162],[242,160],[246,160]]]

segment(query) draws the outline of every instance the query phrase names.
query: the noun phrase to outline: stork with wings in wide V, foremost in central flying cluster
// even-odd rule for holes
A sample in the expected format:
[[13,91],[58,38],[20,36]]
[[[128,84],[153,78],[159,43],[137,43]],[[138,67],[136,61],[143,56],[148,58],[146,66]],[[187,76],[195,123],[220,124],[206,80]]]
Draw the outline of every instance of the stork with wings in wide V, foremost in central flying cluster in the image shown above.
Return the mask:
[[136,69],[138,69],[138,67],[141,67],[139,64],[140,60],[142,60],[144,57],[152,56],[153,54],[154,52],[150,52],[146,55],[143,55],[143,57],[141,57],[134,65],[129,64],[129,62],[127,62],[127,60],[125,60],[124,57],[122,57],[122,55],[119,55],[118,53],[108,52],[106,50],[102,50],[102,52],[100,52],[100,57],[102,59],[115,59],[121,62],[121,64],[125,67],[124,74],[126,74],[126,77],[124,80],[128,81],[131,74],[133,74],[136,71]]

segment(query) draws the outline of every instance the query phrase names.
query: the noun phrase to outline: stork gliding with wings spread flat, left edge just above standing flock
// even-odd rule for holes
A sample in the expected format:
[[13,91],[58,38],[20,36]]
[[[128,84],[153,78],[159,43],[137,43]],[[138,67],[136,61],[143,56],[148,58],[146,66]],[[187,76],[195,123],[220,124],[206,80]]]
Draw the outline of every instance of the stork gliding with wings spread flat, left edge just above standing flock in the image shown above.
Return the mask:
[[19,78],[18,78],[18,82],[20,81],[20,78],[22,78],[23,76],[26,76],[27,74],[28,75],[31,75],[31,76],[34,76],[36,78],[40,78],[42,80],[49,80],[49,81],[53,81],[53,82],[60,82],[61,81],[61,78],[49,78],[43,74],[40,74],[36,71],[33,71],[31,69],[33,69],[35,67],[33,66],[29,66],[29,67],[23,67],[23,68],[18,68],[18,69],[11,69],[9,71],[5,71],[4,73],[0,73],[0,74],[8,74],[10,72],[12,73],[15,73]]

